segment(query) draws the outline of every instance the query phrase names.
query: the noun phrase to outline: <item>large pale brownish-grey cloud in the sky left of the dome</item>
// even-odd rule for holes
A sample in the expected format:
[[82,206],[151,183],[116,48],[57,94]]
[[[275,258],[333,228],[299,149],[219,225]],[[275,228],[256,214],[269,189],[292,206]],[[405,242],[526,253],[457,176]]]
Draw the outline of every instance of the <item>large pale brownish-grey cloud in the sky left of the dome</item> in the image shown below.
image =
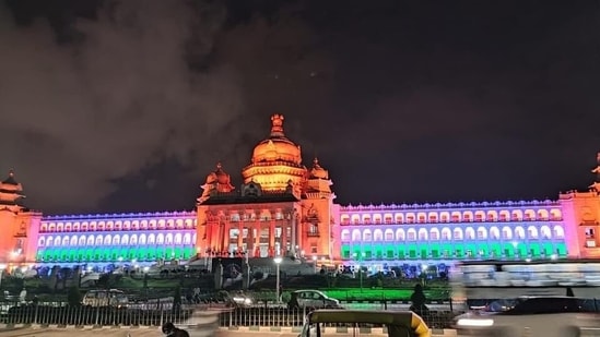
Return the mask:
[[58,45],[46,21],[17,27],[2,9],[0,153],[34,205],[93,208],[110,179],[169,156],[208,169],[203,159],[227,147],[215,140],[244,112],[236,74],[226,64],[190,72],[185,58],[190,43],[197,57],[212,52],[225,12],[196,10],[109,2],[73,25],[80,43]]

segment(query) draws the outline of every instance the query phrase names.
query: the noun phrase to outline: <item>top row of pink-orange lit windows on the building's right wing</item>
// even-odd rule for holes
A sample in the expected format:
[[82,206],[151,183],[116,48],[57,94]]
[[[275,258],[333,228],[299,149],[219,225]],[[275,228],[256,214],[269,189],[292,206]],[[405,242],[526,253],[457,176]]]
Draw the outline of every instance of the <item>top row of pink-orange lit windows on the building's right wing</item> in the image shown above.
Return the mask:
[[551,209],[490,209],[402,213],[342,214],[342,225],[437,224],[437,222],[496,222],[496,221],[560,221],[560,208]]

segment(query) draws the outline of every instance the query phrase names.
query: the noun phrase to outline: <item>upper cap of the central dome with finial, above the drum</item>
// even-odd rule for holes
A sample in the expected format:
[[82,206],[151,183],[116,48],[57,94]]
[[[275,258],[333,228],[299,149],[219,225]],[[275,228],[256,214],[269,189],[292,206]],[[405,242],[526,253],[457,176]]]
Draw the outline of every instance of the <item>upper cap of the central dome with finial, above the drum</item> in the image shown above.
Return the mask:
[[252,164],[286,161],[302,164],[301,148],[283,133],[283,116],[271,117],[271,136],[258,143],[252,153]]

